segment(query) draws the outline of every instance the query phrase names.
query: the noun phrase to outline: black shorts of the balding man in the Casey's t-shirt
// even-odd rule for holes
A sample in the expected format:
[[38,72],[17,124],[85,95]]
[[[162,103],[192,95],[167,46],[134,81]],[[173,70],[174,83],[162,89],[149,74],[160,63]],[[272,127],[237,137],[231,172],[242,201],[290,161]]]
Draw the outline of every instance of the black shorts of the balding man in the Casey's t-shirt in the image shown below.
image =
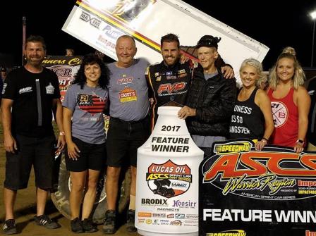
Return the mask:
[[137,166],[137,149],[150,137],[150,120],[110,118],[107,132],[107,166]]

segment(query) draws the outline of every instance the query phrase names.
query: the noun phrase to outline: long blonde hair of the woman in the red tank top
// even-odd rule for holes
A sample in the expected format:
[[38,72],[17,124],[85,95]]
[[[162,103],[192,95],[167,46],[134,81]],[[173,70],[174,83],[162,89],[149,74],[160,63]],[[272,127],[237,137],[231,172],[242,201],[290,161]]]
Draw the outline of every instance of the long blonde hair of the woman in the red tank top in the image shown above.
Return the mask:
[[269,87],[272,89],[276,89],[277,85],[279,84],[279,77],[277,75],[277,66],[281,59],[283,58],[289,58],[294,61],[294,75],[292,77],[293,80],[293,88],[298,89],[300,85],[303,85],[305,82],[305,73],[303,71],[302,66],[300,66],[300,63],[298,62],[296,58],[296,51],[291,46],[287,46],[283,49],[282,53],[277,58],[277,62],[274,64],[272,69],[269,73]]

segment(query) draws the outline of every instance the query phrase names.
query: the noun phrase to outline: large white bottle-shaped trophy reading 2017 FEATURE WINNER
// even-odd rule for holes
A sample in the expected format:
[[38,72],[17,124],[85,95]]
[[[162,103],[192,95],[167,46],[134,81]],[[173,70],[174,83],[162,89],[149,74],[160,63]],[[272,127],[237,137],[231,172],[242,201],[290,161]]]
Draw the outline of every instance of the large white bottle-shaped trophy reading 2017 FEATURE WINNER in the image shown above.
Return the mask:
[[140,235],[198,234],[198,169],[203,151],[179,107],[158,108],[158,120],[138,149],[135,227]]

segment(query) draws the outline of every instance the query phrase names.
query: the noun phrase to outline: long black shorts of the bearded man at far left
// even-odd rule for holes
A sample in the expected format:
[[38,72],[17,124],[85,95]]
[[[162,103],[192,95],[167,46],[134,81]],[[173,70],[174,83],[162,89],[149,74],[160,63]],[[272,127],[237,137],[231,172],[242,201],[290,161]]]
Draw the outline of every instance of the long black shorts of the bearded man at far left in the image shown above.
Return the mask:
[[25,137],[16,135],[18,151],[6,152],[6,180],[4,187],[20,190],[28,187],[32,165],[35,185],[43,190],[52,187],[55,137]]

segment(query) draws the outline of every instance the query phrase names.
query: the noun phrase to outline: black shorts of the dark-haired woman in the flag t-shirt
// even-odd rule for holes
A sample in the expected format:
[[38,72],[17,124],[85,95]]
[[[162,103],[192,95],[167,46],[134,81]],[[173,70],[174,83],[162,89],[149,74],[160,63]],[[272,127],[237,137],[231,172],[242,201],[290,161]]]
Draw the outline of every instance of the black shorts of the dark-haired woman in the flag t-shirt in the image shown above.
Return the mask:
[[69,158],[66,151],[66,168],[68,171],[81,172],[85,170],[102,170],[105,166],[106,152],[105,144],[88,144],[82,140],[72,137],[73,142],[80,150],[77,160]]

